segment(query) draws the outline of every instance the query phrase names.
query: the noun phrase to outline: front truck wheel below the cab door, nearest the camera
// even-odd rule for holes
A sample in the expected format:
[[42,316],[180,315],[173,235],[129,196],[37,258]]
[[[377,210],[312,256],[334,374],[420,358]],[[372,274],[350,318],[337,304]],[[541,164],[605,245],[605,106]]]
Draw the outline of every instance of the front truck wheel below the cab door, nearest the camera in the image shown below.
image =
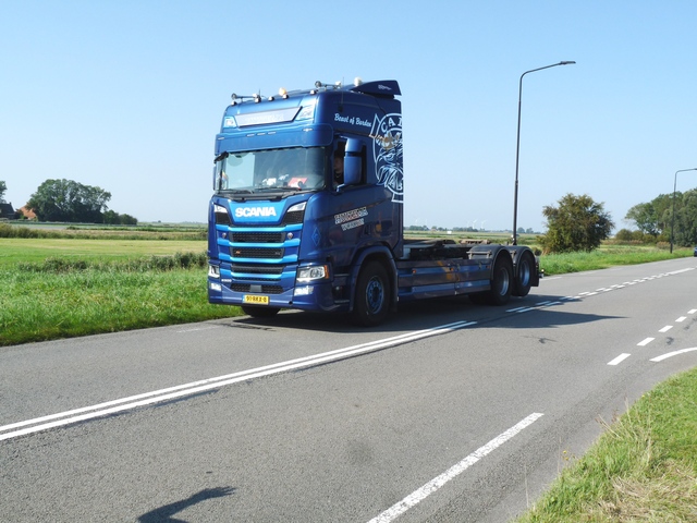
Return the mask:
[[362,327],[381,324],[390,311],[390,279],[378,262],[368,262],[356,282],[353,323]]

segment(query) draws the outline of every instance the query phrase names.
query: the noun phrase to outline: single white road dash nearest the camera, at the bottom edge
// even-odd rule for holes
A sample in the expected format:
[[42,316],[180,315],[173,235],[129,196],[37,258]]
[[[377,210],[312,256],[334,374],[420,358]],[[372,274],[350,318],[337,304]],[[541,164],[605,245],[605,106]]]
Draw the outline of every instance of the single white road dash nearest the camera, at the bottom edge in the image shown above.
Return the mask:
[[433,494],[436,490],[438,490],[440,487],[442,487],[448,482],[453,479],[455,476],[458,476],[460,474],[465,472],[467,469],[469,469],[472,465],[474,465],[476,462],[478,462],[481,458],[484,458],[485,455],[487,455],[491,451],[496,450],[497,448],[501,447],[508,440],[510,440],[511,438],[516,436],[524,428],[530,426],[533,423],[535,423],[537,419],[539,419],[542,416],[543,416],[543,414],[540,414],[540,413],[530,414],[529,416],[527,416],[522,422],[519,422],[516,425],[514,425],[511,428],[509,428],[505,433],[502,433],[499,436],[497,436],[496,438],[493,438],[491,441],[489,441],[484,447],[479,447],[472,454],[469,454],[467,458],[462,460],[460,463],[457,463],[457,464],[451,466],[450,469],[448,469],[440,476],[435,477],[433,479],[428,482],[423,487],[420,487],[417,490],[415,490],[414,492],[409,494],[402,501],[393,504],[388,510],[382,512],[380,515],[378,515],[377,518],[374,518],[372,520],[370,520],[369,523],[389,523],[389,522],[393,521],[395,518],[398,518],[399,515],[403,514],[404,512],[409,510],[412,507],[418,504],[426,497],[428,497],[431,494]]

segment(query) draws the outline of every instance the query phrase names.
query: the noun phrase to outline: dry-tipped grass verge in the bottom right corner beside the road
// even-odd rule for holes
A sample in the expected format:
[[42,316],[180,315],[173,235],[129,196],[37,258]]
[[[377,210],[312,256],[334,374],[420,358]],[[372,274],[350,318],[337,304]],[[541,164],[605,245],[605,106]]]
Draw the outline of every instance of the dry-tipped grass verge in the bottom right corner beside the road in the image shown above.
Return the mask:
[[697,369],[641,397],[517,523],[697,521]]

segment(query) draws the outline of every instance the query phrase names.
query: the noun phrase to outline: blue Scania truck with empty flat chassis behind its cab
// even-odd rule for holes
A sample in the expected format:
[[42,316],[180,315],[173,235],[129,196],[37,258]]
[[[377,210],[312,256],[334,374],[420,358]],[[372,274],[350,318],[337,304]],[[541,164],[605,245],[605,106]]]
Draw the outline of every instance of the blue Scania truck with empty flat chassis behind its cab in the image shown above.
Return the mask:
[[399,303],[506,304],[539,284],[529,247],[404,236],[396,81],[232,95],[216,136],[208,300],[384,321]]

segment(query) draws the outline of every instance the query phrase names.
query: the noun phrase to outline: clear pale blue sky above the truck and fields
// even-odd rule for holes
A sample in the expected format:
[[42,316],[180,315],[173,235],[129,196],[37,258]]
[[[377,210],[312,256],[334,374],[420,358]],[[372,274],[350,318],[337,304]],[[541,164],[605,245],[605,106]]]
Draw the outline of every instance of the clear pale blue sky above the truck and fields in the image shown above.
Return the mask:
[[[697,2],[5,1],[0,180],[109,191],[140,221],[206,220],[230,94],[398,80],[406,224],[510,229],[588,194],[632,206],[697,167]],[[697,171],[677,188],[697,186]]]

